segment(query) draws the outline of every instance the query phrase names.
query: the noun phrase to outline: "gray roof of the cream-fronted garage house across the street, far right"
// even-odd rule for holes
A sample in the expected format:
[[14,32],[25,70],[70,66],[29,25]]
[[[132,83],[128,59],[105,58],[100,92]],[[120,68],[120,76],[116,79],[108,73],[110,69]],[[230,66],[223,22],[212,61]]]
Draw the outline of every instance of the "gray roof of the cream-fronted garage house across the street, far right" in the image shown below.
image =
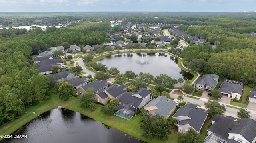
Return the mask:
[[226,80],[224,80],[224,82],[222,82],[222,84],[220,85],[220,89],[219,89],[220,92],[224,92],[224,93],[227,93],[227,94],[238,93],[238,94],[242,95],[243,85],[235,84],[235,83],[229,83],[229,82],[225,82],[225,81]]

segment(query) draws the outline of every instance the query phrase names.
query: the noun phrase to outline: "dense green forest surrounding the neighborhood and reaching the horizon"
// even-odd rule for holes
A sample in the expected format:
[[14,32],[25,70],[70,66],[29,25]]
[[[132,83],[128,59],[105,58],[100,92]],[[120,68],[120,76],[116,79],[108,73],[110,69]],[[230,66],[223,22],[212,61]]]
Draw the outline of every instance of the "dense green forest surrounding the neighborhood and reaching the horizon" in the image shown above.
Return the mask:
[[[203,74],[214,73],[256,86],[256,36],[248,34],[256,32],[256,13],[1,13],[0,25],[5,26],[69,25],[48,27],[46,31],[39,27],[31,27],[29,31],[0,30],[0,125],[18,118],[25,107],[43,102],[53,86],[50,76],[40,75],[34,69],[31,55],[53,46],[63,45],[67,49],[72,44],[79,47],[102,44],[109,40],[106,32],[112,29],[110,20],[121,19],[123,24],[169,24],[163,29],[175,25],[184,33],[205,39],[205,45],[192,43],[184,49],[180,55],[184,65]],[[211,45],[216,45],[216,49]]]

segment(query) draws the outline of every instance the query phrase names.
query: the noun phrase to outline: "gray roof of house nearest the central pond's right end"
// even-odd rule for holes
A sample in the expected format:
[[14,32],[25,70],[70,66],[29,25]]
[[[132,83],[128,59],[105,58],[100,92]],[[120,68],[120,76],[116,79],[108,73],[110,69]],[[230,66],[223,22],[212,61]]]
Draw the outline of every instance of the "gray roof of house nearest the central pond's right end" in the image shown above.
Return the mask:
[[216,85],[218,84],[218,81],[214,80],[214,78],[219,78],[220,76],[216,75],[216,74],[206,74],[205,76],[199,77],[195,84],[200,84],[200,85],[204,85],[204,88],[206,86],[215,88]]

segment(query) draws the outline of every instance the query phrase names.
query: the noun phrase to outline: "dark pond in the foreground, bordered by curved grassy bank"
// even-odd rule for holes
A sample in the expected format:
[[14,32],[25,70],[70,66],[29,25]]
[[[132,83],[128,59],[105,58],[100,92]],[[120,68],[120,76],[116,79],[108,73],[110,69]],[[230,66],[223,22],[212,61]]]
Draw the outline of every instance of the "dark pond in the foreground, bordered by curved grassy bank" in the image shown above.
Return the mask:
[[24,139],[0,143],[141,143],[131,135],[67,109],[53,109],[38,116],[12,135]]

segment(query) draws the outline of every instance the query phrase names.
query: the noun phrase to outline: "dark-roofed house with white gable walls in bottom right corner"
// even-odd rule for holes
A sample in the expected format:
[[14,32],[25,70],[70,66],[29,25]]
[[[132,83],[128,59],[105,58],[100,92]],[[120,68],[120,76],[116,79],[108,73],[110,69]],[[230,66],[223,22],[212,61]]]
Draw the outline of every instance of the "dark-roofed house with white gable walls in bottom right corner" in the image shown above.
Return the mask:
[[212,125],[207,129],[204,143],[255,143],[256,122],[242,118],[237,121],[230,116],[215,114]]

